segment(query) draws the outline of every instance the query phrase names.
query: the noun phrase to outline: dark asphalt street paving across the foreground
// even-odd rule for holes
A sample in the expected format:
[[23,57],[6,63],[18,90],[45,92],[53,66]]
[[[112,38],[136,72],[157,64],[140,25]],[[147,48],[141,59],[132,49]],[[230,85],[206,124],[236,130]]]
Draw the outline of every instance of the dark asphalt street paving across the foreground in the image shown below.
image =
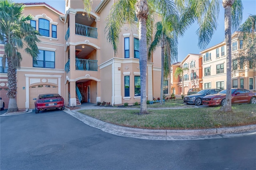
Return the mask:
[[208,140],[143,140],[108,134],[63,111],[2,116],[0,123],[1,170],[256,167],[255,133]]

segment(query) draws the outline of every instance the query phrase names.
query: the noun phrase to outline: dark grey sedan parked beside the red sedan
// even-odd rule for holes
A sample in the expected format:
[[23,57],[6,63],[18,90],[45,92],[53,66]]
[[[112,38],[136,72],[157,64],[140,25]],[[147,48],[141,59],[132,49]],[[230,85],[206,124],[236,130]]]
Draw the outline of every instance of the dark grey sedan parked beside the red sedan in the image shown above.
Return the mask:
[[206,95],[213,95],[216,93],[219,93],[222,91],[221,89],[204,89],[201,91],[198,91],[194,95],[188,95],[183,98],[183,102],[190,105],[201,105],[202,104],[202,98]]

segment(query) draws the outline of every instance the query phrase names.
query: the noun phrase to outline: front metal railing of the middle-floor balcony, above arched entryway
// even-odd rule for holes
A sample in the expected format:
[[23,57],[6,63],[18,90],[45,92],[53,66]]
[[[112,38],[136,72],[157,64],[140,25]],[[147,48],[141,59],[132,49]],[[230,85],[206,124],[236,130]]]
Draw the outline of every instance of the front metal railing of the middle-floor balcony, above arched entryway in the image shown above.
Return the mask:
[[98,71],[98,61],[92,59],[76,59],[76,70]]

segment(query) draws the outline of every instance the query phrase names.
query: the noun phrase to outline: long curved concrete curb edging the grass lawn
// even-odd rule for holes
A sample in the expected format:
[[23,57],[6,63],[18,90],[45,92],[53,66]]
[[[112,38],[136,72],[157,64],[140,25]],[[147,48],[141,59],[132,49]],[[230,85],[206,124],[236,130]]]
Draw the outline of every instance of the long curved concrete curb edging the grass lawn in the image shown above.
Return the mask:
[[84,115],[77,111],[65,111],[76,119],[82,121],[86,125],[98,128],[104,132],[115,134],[118,136],[126,136],[149,140],[199,140],[210,138],[224,138],[234,136],[235,133],[248,132],[256,130],[256,125],[247,125],[241,127],[228,128],[212,128],[212,129],[198,129],[198,130],[153,130],[130,128],[113,125]]

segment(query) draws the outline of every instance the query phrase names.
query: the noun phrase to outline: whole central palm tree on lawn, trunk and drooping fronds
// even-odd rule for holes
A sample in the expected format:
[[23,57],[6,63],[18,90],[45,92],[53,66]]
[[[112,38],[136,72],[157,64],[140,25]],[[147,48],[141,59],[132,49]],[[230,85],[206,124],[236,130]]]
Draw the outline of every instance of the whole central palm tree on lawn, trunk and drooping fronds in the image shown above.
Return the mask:
[[[115,55],[119,43],[119,34],[124,22],[135,25],[135,15],[138,18],[139,56],[140,56],[140,114],[147,113],[146,105],[146,69],[147,69],[147,37],[150,37],[153,14],[171,16],[176,14],[174,2],[171,0],[118,0],[107,16],[106,33],[108,42],[112,44]],[[149,26],[149,27],[147,27]]]

